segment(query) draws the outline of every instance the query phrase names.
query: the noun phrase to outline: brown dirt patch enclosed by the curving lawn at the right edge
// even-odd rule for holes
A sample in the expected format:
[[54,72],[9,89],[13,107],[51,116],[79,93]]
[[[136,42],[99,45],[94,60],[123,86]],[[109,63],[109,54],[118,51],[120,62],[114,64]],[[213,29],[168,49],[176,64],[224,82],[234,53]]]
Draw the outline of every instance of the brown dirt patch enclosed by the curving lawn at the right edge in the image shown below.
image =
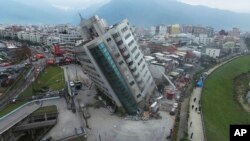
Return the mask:
[[234,98],[240,103],[242,108],[250,113],[250,104],[246,100],[249,91],[250,72],[242,73],[234,78]]

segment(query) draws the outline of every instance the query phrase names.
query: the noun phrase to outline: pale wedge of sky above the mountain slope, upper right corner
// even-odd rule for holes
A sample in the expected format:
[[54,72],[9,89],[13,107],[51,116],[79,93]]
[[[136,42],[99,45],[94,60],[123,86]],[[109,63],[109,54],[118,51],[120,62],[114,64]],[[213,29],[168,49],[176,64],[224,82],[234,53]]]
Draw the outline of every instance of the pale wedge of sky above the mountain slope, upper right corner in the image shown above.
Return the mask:
[[177,0],[191,5],[250,13],[250,0]]

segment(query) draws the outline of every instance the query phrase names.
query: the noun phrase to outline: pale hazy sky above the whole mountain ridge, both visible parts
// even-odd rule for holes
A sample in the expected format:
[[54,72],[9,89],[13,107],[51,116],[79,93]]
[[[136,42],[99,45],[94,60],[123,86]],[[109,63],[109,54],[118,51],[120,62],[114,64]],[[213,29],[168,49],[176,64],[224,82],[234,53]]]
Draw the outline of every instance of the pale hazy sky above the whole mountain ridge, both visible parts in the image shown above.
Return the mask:
[[[50,4],[56,8],[69,10],[85,9],[93,5],[103,5],[110,0],[14,0],[25,4]],[[135,0],[136,1],[136,0]],[[177,0],[191,5],[203,5],[212,8],[250,13],[250,0]]]

